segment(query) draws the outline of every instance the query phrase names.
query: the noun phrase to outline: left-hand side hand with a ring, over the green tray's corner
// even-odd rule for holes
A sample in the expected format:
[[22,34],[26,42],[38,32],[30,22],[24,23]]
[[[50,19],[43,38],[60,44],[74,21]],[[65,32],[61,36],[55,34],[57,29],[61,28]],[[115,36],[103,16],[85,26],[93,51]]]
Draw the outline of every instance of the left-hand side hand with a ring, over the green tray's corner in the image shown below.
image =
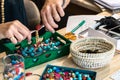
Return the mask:
[[25,38],[31,41],[31,33],[18,20],[0,24],[0,39],[8,38],[14,44],[21,42]]

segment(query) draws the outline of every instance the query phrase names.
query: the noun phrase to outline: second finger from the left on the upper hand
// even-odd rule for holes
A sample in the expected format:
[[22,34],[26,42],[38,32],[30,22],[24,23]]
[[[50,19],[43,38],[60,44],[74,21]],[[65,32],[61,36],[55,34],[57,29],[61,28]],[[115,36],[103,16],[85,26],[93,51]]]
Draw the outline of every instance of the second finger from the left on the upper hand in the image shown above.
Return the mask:
[[47,8],[46,16],[47,16],[48,23],[49,23],[53,28],[58,28],[58,25],[54,22],[54,19],[53,19],[53,17],[52,17],[52,12],[51,12],[51,9],[50,9],[50,8]]

